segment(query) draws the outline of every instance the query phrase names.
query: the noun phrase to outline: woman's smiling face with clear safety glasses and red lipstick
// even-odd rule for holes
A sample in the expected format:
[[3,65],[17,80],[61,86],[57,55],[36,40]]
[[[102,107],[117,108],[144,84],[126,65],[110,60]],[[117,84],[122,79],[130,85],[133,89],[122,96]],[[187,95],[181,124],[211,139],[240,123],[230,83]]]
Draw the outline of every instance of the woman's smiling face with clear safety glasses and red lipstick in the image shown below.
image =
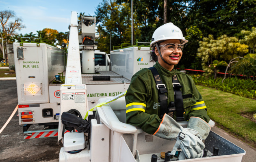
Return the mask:
[[[159,45],[165,45],[167,43],[173,43],[173,44],[180,44],[180,40],[178,39],[169,39],[165,40],[164,42],[160,43]],[[158,46],[159,46],[158,45]],[[174,51],[169,50],[163,50],[163,47],[159,47],[161,50],[161,54],[163,59],[171,65],[165,64],[165,62],[162,60],[162,58],[159,55],[158,50],[155,47],[155,53],[157,55],[157,60],[161,66],[166,68],[167,70],[172,70],[174,68],[174,65],[177,65],[182,57],[182,51],[178,50],[177,48],[174,49]]]

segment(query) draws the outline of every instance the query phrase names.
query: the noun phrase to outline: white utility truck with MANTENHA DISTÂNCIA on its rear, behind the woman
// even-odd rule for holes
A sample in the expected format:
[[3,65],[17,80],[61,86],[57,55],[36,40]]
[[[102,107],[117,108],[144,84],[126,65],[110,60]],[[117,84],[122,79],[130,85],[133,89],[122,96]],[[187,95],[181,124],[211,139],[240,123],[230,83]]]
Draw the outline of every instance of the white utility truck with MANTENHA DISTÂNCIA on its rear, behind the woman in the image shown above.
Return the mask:
[[[150,47],[145,47],[145,43],[111,51],[110,60],[109,54],[97,50],[96,18],[82,16],[79,22],[73,19],[69,28],[76,30],[70,30],[67,54],[43,42],[13,43],[19,124],[23,126],[24,139],[57,136],[63,99],[61,87],[72,85],[77,89],[86,84],[88,107],[94,107],[99,98],[125,92],[132,75],[154,65]],[[66,99],[74,100],[74,96]],[[29,131],[33,124],[44,128]]]

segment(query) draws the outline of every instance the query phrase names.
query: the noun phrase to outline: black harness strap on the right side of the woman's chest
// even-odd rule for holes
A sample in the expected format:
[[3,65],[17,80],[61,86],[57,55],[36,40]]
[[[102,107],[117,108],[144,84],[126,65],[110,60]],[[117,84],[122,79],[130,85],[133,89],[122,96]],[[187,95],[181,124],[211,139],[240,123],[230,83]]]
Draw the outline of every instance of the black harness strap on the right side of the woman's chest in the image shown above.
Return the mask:
[[176,74],[172,78],[172,85],[174,87],[174,103],[175,103],[176,112],[177,112],[176,113],[176,117],[177,117],[176,121],[183,122],[184,121],[184,117],[183,117],[184,107],[183,107],[182,92],[180,90],[180,88],[182,88],[183,86],[180,85]]

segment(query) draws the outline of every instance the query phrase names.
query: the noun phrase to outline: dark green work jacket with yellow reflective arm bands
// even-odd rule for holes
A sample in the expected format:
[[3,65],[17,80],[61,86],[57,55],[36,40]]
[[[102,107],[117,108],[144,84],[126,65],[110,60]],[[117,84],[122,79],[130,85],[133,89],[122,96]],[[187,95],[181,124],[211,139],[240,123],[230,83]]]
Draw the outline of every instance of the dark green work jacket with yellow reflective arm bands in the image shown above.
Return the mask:
[[[195,83],[189,75],[176,70],[169,71],[163,68],[158,62],[154,65],[160,74],[161,80],[167,89],[167,105],[174,102],[174,89],[172,77],[174,73],[178,78],[183,96],[184,121],[190,117],[200,117],[207,123],[210,118],[207,115],[207,109],[201,94],[195,87]],[[191,97],[192,94],[192,97]],[[187,98],[189,96],[189,98]],[[142,128],[144,132],[154,134],[158,129],[162,119],[161,106],[158,102],[158,90],[152,72],[144,68],[132,77],[130,86],[126,92],[126,123]],[[176,120],[176,111],[173,118]]]

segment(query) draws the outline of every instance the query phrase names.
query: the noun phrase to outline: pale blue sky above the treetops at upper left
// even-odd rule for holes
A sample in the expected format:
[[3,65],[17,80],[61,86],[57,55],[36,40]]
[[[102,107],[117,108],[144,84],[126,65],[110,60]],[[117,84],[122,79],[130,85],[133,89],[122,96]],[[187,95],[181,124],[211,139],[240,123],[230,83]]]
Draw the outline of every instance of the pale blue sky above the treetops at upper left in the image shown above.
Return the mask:
[[13,10],[22,18],[25,29],[17,33],[37,33],[44,28],[67,32],[71,11],[95,15],[102,0],[0,0],[0,11]]

